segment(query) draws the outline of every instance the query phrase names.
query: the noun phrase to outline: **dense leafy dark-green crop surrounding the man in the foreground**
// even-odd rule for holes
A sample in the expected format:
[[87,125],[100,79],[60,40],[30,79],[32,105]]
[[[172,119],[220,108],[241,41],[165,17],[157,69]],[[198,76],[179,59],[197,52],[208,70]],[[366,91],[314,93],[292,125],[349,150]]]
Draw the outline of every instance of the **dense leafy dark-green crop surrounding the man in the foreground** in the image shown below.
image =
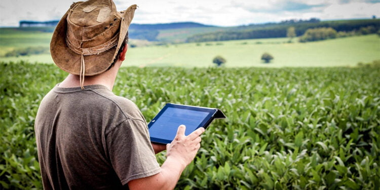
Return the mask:
[[[34,117],[65,76],[53,64],[0,64],[1,189],[42,189]],[[147,121],[166,102],[224,111],[176,189],[379,189],[378,76],[378,67],[123,67],[113,92]]]

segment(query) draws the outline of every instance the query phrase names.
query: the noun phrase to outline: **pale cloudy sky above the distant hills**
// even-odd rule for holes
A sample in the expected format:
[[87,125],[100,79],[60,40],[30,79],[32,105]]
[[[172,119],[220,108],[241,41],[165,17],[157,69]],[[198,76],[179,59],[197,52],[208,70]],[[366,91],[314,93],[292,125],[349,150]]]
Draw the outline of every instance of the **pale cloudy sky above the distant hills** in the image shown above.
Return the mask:
[[[59,20],[72,0],[1,0],[0,26]],[[77,1],[75,1],[77,2]],[[132,23],[199,22],[237,26],[290,19],[380,18],[380,0],[114,0],[118,11],[137,4]]]

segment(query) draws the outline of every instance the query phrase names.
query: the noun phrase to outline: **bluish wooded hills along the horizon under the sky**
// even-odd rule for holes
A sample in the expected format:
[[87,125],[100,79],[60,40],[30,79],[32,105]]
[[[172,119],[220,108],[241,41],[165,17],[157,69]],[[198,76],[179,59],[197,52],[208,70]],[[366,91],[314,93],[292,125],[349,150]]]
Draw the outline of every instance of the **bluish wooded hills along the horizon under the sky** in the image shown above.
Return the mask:
[[[20,21],[20,30],[52,32],[52,24],[57,21]],[[24,26],[24,27],[22,27]],[[38,27],[33,27],[38,26]],[[234,27],[220,27],[205,25],[196,22],[175,22],[161,24],[131,24],[129,28],[130,39],[155,41],[163,43],[228,41],[243,39],[259,39],[286,37],[287,28],[295,27],[297,36],[302,35],[309,28],[332,27],[336,31],[358,31],[370,27],[372,30],[380,29],[379,19],[363,20],[337,20],[320,21],[287,20],[278,23],[250,24]],[[367,28],[368,29],[368,28]],[[373,33],[373,32],[372,32]]]

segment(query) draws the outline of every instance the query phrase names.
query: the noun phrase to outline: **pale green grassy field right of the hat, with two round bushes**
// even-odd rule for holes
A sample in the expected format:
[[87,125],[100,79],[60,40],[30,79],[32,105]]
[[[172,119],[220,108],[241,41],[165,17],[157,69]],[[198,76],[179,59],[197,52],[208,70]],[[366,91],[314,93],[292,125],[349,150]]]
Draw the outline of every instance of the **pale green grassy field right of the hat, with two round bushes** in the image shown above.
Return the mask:
[[[125,65],[208,67],[212,59],[221,55],[226,67],[326,67],[354,66],[358,62],[380,59],[380,37],[355,36],[313,43],[284,43],[288,39],[257,39],[144,47],[130,49]],[[296,39],[294,40],[296,41]],[[216,45],[221,43],[221,45]],[[211,46],[206,46],[211,44]],[[274,56],[270,64],[260,57],[264,52]]]

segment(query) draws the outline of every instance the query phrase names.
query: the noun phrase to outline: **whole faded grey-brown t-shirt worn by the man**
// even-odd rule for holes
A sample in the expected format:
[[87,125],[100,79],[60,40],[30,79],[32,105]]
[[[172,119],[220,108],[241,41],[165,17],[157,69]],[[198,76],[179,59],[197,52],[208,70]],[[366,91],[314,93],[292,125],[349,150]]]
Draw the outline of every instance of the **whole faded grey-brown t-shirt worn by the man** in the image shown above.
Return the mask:
[[45,189],[121,189],[161,171],[138,107],[102,85],[57,85],[34,129]]

